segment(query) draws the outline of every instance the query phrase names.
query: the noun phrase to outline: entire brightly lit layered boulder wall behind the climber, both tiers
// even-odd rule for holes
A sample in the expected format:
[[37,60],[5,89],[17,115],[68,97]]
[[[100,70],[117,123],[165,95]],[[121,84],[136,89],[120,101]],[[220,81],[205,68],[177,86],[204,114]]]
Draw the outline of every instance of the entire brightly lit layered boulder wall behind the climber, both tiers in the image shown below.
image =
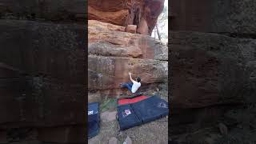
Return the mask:
[[134,77],[142,78],[142,85],[166,82],[166,46],[150,36],[124,32],[120,26],[110,28],[102,22],[88,23],[89,90],[120,94],[119,84],[129,81],[129,71]]

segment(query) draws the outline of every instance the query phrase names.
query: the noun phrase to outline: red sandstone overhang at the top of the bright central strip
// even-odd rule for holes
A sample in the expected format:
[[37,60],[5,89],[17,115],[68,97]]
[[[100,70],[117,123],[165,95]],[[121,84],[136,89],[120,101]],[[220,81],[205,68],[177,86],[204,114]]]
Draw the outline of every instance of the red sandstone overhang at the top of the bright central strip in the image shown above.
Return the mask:
[[151,34],[164,0],[89,0],[88,19],[118,26],[136,25],[139,34]]

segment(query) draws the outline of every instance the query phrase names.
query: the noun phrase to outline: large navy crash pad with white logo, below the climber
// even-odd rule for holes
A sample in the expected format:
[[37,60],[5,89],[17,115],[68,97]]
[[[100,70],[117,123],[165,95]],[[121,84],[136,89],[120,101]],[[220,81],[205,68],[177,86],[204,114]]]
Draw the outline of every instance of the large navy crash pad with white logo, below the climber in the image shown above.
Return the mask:
[[120,130],[152,122],[169,114],[168,102],[152,96],[139,102],[118,106]]

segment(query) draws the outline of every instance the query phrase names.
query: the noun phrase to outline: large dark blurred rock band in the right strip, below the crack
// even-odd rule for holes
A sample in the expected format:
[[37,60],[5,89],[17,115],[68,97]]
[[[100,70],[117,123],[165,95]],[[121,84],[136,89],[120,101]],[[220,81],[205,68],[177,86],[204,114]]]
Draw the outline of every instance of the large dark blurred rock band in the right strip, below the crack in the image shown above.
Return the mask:
[[[222,34],[173,32],[173,105],[182,108],[239,103],[254,74],[256,40]],[[178,83],[182,83],[179,86]],[[182,90],[181,90],[182,89]]]

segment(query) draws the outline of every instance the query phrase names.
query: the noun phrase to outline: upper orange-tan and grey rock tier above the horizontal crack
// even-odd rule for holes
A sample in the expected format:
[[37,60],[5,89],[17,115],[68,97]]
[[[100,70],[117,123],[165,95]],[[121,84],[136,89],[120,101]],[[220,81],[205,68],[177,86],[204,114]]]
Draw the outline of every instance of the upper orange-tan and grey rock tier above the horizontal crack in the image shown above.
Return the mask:
[[119,26],[107,28],[103,22],[88,22],[88,42],[89,54],[168,60],[168,48],[161,42],[147,35],[123,32]]

